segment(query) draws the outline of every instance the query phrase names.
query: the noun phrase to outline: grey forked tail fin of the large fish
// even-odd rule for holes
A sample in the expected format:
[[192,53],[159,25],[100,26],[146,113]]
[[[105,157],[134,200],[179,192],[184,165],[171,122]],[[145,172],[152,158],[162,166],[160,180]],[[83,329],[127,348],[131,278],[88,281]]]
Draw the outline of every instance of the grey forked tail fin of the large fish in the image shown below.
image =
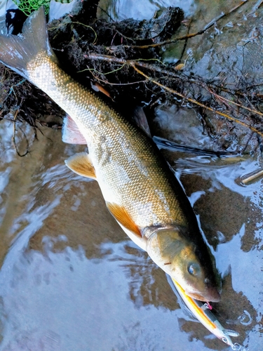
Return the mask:
[[28,79],[27,63],[34,59],[39,51],[46,51],[47,55],[57,61],[48,41],[43,6],[27,18],[22,35],[0,35],[0,62]]

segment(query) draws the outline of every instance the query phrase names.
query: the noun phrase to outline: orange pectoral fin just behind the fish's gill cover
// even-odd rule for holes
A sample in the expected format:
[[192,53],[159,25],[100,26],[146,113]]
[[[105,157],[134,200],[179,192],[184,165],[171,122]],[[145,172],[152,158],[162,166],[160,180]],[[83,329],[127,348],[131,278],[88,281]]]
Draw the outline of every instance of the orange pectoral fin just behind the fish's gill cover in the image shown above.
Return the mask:
[[116,204],[111,204],[110,202],[107,202],[107,208],[109,209],[109,212],[112,213],[112,216],[114,216],[114,218],[125,227],[126,230],[133,232],[133,234],[136,234],[138,237],[142,237],[139,228],[125,208]]

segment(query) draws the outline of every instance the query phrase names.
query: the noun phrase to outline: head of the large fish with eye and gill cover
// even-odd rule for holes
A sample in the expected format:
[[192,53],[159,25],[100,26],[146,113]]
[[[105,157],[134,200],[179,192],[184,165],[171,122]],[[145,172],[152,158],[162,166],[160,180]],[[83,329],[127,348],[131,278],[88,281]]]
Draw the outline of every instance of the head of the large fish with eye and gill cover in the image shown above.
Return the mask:
[[147,240],[147,252],[191,298],[212,302],[220,300],[213,272],[208,271],[212,263],[201,263],[195,244],[183,237],[180,230],[156,230]]

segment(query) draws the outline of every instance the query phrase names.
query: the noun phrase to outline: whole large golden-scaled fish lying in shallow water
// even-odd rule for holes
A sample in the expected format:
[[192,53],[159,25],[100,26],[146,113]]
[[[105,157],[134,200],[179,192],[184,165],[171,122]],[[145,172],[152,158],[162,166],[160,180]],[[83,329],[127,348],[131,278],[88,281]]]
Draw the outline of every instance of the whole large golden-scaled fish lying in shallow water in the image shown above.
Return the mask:
[[22,35],[0,36],[0,61],[45,92],[69,116],[63,140],[88,153],[65,161],[97,180],[109,212],[135,244],[198,300],[220,300],[215,263],[196,215],[153,140],[66,74],[50,43],[43,7]]

